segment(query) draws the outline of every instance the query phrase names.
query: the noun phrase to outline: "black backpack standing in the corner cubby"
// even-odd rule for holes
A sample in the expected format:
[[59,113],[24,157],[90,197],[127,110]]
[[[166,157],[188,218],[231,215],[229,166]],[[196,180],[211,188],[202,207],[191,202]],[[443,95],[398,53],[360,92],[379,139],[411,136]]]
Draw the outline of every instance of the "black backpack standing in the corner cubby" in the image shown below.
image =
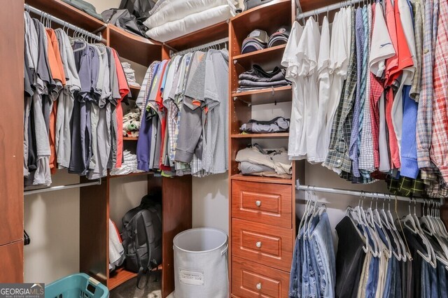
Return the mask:
[[[125,269],[141,276],[162,264],[162,205],[160,193],[147,194],[140,206],[123,216]],[[149,277],[146,279],[148,283]]]

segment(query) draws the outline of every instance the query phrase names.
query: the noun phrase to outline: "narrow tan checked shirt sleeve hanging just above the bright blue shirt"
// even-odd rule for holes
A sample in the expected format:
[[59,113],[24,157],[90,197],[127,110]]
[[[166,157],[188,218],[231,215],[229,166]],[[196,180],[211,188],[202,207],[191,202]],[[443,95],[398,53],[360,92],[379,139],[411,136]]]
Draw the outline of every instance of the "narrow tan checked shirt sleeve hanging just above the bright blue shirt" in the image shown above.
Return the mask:
[[425,17],[423,0],[414,0],[414,38],[416,50],[416,69],[412,78],[411,91],[409,97],[415,101],[420,99],[421,90],[421,59],[423,54],[423,20]]

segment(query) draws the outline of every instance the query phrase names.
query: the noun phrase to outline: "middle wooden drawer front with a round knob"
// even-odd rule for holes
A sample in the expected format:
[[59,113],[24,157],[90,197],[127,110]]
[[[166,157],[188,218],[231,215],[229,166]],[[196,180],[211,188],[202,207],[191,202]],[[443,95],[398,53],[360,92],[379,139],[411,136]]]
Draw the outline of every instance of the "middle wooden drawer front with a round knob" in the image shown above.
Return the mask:
[[232,255],[290,271],[293,230],[232,219]]

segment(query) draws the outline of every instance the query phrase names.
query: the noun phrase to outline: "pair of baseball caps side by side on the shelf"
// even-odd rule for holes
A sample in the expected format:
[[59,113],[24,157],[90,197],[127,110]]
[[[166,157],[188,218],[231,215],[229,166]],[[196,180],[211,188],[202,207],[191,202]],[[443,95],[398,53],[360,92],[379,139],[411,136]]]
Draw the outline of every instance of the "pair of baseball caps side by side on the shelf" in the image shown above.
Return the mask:
[[241,54],[288,43],[289,33],[289,27],[283,26],[277,29],[277,31],[268,38],[265,30],[255,29],[244,38],[243,44],[241,45]]

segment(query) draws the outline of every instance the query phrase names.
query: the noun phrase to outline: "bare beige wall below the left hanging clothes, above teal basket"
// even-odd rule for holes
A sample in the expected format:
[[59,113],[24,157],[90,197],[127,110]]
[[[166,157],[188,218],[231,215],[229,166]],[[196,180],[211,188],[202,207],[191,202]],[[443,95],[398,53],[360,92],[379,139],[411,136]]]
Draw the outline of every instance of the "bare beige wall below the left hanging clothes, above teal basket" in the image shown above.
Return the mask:
[[[53,185],[79,183],[66,171]],[[25,283],[50,283],[79,271],[79,189],[25,196]]]

